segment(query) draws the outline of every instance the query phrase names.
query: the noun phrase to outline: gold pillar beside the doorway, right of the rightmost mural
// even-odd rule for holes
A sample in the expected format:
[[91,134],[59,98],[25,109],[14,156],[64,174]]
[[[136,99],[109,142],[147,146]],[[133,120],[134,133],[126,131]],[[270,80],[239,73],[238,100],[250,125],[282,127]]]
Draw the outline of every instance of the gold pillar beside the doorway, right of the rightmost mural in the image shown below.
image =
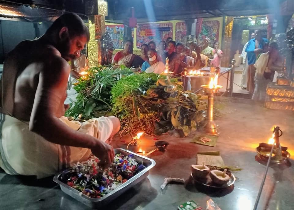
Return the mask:
[[232,29],[233,29],[234,17],[225,17],[225,28],[224,28],[224,57],[222,58],[222,66],[229,67],[231,63],[231,42],[232,42]]

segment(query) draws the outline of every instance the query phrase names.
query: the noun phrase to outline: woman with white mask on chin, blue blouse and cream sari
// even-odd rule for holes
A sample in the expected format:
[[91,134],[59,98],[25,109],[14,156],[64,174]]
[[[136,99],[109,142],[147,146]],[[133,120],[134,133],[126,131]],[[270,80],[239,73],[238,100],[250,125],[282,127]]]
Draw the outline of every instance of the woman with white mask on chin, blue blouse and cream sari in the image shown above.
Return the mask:
[[155,49],[149,49],[148,50],[148,58],[149,60],[145,61],[142,64],[142,71],[145,71],[146,73],[156,73],[160,74],[164,71],[165,65],[161,61],[157,60],[157,53]]

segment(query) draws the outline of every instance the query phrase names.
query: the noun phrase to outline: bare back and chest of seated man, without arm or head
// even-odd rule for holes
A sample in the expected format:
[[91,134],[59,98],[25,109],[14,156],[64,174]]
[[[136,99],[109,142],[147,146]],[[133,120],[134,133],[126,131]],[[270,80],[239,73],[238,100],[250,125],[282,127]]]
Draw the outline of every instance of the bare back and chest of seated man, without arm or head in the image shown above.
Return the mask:
[[[61,57],[59,51],[50,45],[43,45],[40,40],[26,40],[21,42],[11,51],[4,64],[2,75],[2,112],[22,121],[29,121],[36,89],[39,83],[40,71],[56,72],[47,69],[46,66],[54,59]],[[66,60],[64,60],[66,63]],[[68,73],[70,67],[68,65]],[[59,72],[62,73],[62,72]],[[58,77],[59,75],[52,75]],[[65,75],[68,77],[68,75]],[[60,98],[59,109],[56,117],[64,115],[63,102],[66,99],[66,84],[60,90],[63,97]]]

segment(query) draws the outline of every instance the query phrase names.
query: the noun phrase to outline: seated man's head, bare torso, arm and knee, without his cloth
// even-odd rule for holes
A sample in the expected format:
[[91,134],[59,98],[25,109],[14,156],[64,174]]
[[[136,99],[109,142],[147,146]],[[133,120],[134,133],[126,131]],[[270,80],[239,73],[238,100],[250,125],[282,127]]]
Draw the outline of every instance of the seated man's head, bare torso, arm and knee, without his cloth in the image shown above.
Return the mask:
[[[104,142],[107,139],[98,140],[71,129],[59,119],[65,113],[63,103],[70,73],[67,61],[80,56],[88,41],[89,30],[81,18],[67,13],[39,39],[17,45],[4,63],[1,111],[28,121],[30,132],[51,143],[90,149],[103,165],[108,165],[114,151]],[[111,137],[120,123],[115,117],[108,117],[107,121],[111,121]]]

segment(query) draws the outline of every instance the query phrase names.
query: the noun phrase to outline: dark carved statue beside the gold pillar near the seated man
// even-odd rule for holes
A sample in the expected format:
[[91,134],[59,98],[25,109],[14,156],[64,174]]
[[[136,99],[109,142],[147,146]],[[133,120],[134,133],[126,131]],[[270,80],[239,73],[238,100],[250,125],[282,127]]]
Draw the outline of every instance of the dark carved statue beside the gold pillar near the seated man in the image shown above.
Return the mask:
[[101,65],[111,64],[112,52],[115,50],[113,43],[111,41],[110,33],[105,32],[102,38],[102,60]]

